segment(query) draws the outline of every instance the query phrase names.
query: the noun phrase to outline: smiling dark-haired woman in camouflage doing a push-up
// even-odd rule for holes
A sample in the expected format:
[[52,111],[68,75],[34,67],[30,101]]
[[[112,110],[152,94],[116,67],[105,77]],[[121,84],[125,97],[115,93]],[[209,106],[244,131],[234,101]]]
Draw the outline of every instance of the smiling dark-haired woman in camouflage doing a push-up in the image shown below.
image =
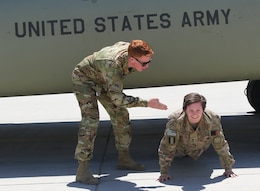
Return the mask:
[[205,108],[205,97],[198,93],[190,93],[184,97],[183,110],[169,116],[158,149],[161,173],[158,180],[160,182],[171,179],[169,168],[176,151],[183,157],[190,156],[196,160],[211,144],[225,169],[223,175],[237,176],[232,171],[235,160],[229,152],[220,117]]

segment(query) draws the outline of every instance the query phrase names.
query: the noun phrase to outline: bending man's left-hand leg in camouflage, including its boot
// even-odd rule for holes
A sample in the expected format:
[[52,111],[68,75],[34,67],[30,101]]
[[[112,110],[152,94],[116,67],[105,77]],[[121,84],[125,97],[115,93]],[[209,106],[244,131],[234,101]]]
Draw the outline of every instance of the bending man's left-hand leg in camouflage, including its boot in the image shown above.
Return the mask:
[[99,123],[96,93],[91,86],[92,84],[85,84],[84,87],[79,85],[73,87],[82,117],[78,130],[78,144],[75,150],[75,159],[79,162],[76,181],[84,184],[98,184],[98,179],[94,178],[88,169],[89,160],[93,157]]

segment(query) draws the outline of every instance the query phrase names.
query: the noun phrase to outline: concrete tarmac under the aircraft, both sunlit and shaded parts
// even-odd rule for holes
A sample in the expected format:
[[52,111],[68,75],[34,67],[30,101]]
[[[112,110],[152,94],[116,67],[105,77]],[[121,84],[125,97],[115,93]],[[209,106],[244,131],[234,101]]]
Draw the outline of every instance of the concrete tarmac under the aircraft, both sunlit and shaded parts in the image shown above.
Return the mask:
[[[169,107],[130,109],[132,158],[145,165],[143,172],[116,169],[117,151],[111,124],[101,107],[101,122],[95,142],[91,172],[100,183],[75,182],[80,113],[72,94],[26,96],[0,99],[0,190],[46,191],[168,191],[237,190],[260,188],[260,116],[243,95],[246,81],[163,88],[126,90],[143,98],[158,97]],[[157,149],[167,116],[181,107],[186,93],[199,92],[209,109],[222,116],[230,151],[236,159],[236,178],[224,178],[224,170],[212,147],[194,161],[175,158],[172,180],[160,183]]]

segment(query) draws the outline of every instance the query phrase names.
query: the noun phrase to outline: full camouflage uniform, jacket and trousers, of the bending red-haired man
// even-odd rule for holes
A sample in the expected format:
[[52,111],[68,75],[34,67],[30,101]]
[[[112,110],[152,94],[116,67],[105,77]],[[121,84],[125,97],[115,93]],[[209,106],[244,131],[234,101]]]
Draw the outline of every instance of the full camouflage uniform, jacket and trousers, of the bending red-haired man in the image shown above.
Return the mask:
[[123,93],[123,79],[135,72],[128,68],[129,43],[118,42],[84,58],[72,72],[73,92],[81,110],[75,158],[93,157],[99,124],[99,101],[108,112],[118,150],[128,149],[131,142],[129,107],[147,107],[147,101]]

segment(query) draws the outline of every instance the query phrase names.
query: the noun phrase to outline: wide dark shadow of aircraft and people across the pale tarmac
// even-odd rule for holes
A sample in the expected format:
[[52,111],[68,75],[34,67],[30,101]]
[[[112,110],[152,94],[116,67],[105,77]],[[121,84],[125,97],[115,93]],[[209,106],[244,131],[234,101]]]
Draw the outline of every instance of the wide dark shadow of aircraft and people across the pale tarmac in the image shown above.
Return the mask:
[[[167,119],[133,120],[131,155],[134,160],[145,164],[144,173],[156,173],[159,165],[157,149],[163,135]],[[260,115],[224,116],[222,124],[230,151],[236,159],[234,168],[260,167]],[[77,161],[74,149],[77,144],[79,122],[1,124],[0,125],[0,178],[38,177],[38,176],[74,176]],[[122,177],[134,172],[116,170],[117,151],[109,121],[101,121],[95,142],[94,158],[90,163],[93,174],[99,175],[107,187],[119,186],[124,191],[148,190],[155,186],[140,186],[124,181]],[[97,168],[98,167],[98,168]],[[212,169],[220,169],[218,157],[210,147],[194,161],[191,158],[175,158],[171,167],[173,179],[161,184],[181,186],[182,190],[195,191],[205,189],[205,185],[223,181],[219,174],[211,178]],[[206,177],[206,178],[202,178]],[[192,180],[192,181],[189,181]],[[70,182],[68,187],[88,188],[94,186]]]

